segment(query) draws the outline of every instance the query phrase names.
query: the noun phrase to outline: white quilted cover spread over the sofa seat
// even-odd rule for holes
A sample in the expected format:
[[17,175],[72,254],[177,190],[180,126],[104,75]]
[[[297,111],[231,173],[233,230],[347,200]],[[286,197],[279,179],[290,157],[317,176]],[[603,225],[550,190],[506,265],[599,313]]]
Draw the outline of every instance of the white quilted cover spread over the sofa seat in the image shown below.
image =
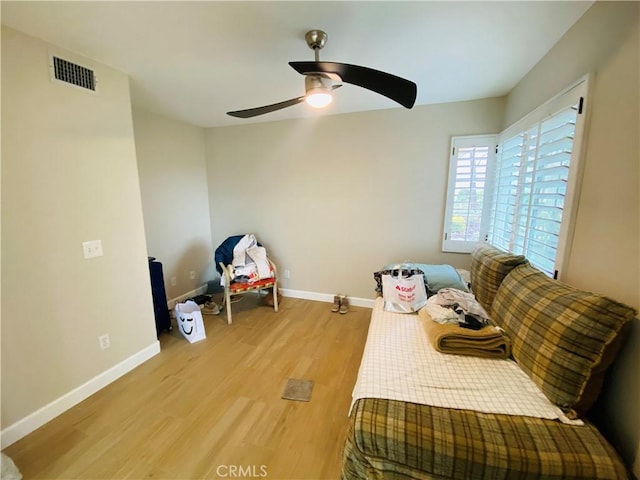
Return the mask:
[[387,312],[380,297],[371,315],[351,405],[359,398],[582,424],[569,420],[514,361],[437,352],[418,315]]

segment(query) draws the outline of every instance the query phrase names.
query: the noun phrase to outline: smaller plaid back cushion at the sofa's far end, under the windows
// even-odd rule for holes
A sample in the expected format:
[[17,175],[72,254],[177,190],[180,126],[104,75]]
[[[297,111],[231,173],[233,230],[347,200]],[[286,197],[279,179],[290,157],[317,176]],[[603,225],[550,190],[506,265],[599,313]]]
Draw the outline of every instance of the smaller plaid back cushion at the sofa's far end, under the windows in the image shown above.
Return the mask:
[[488,243],[480,243],[471,253],[471,290],[487,312],[504,278],[518,265],[526,263],[522,255],[503,252]]

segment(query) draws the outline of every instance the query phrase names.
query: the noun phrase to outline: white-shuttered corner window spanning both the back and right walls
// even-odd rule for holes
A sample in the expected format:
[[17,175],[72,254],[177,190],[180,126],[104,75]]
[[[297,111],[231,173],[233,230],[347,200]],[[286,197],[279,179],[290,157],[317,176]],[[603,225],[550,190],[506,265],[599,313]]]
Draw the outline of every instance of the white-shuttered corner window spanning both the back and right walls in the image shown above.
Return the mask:
[[443,250],[469,252],[487,240],[558,277],[573,230],[586,94],[584,78],[498,135],[495,156],[496,137],[453,138]]

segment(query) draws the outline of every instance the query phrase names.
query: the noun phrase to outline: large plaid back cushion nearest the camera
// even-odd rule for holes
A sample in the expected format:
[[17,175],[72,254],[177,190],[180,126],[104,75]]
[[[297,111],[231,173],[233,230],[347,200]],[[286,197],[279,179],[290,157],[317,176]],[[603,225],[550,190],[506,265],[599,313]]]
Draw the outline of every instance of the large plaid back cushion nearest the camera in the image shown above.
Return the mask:
[[547,398],[584,414],[637,312],[527,264],[504,279],[491,314],[510,337],[513,358]]

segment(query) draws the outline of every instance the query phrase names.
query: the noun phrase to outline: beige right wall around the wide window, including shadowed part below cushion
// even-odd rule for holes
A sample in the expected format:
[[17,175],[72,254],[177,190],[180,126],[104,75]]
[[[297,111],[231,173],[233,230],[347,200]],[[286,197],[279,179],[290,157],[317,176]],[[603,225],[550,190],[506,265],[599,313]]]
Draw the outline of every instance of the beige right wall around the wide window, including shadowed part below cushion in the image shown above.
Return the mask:
[[[591,122],[565,279],[640,308],[640,3],[589,9],[509,94],[505,125],[587,72]],[[639,370],[636,320],[594,414],[637,476]]]

